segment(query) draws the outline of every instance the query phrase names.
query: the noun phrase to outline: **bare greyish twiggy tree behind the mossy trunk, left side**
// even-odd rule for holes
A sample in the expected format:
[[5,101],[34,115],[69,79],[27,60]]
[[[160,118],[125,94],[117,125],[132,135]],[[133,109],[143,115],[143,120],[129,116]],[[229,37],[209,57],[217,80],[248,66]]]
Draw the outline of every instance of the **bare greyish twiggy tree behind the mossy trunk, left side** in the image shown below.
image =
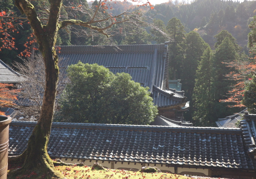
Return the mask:
[[[21,83],[20,103],[16,103],[14,107],[19,109],[24,116],[38,119],[45,91],[45,65],[40,54],[36,55],[34,59],[22,60],[23,64],[17,62],[14,66],[18,69],[19,73],[26,76],[26,80]],[[57,98],[64,89],[63,82],[68,80],[62,72],[60,72],[59,79]],[[57,108],[58,103],[56,102],[55,109]]]

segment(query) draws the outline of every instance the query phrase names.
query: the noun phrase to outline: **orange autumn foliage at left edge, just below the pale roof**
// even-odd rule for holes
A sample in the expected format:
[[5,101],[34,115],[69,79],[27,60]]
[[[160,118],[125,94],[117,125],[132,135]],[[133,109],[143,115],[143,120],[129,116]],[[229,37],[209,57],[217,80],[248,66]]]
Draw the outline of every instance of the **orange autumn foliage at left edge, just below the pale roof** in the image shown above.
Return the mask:
[[[12,107],[19,92],[19,89],[13,89],[12,84],[0,83],[0,107]],[[0,112],[0,115],[5,115],[5,113]]]

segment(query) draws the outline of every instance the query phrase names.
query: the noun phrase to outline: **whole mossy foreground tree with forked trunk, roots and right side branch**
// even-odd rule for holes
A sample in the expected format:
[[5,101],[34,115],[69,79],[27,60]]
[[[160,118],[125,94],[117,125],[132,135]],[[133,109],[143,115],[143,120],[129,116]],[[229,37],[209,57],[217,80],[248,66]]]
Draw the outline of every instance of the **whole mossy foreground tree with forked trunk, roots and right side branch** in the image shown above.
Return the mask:
[[[108,35],[104,30],[110,28],[116,23],[125,22],[127,19],[122,19],[122,15],[125,15],[125,13],[116,16],[108,16],[101,20],[96,19],[95,16],[98,9],[106,6],[105,1],[100,0],[98,7],[95,10],[95,14],[92,14],[89,21],[83,22],[75,19],[60,21],[62,0],[49,0],[50,9],[48,10],[48,22],[45,25],[40,21],[39,15],[30,1],[14,0],[14,3],[20,10],[21,14],[27,16],[39,45],[39,51],[42,53],[45,63],[45,93],[41,114],[38,123],[29,138],[27,149],[20,156],[9,158],[10,163],[20,162],[22,164],[22,167],[18,170],[9,172],[9,178],[15,178],[19,174],[27,174],[31,171],[36,171],[39,176],[44,175],[46,179],[63,178],[63,175],[54,169],[53,161],[47,152],[59,74],[58,56],[55,50],[58,31],[68,25],[77,25],[96,30],[109,38],[110,35]],[[150,3],[148,3],[148,5],[152,6]],[[110,23],[108,26],[103,28],[94,26],[95,22],[99,21],[110,21]]]

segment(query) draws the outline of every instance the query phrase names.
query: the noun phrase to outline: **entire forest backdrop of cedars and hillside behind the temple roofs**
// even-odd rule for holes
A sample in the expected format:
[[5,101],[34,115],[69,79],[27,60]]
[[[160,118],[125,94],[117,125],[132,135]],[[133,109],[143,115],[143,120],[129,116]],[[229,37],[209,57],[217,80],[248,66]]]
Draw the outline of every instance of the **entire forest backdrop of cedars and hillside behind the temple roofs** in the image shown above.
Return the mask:
[[[256,23],[256,19],[253,19],[256,15],[256,0],[244,0],[242,3],[232,0],[195,0],[190,4],[170,0],[154,8],[136,6],[126,1],[113,2],[109,8],[100,10],[102,17],[108,17],[107,12],[117,15],[124,11],[133,11],[131,17],[134,22],[113,25],[108,31],[112,35],[110,39],[85,27],[70,26],[60,30],[57,45],[150,44],[170,41],[169,79],[181,79],[182,90],[191,101],[191,108],[186,114],[187,120],[198,126],[213,126],[217,118],[241,110],[238,107],[243,105],[237,105],[241,99],[234,103],[230,100],[230,91],[234,89],[235,84],[244,82],[251,76],[245,75],[239,79],[228,76],[241,71],[234,64],[230,65],[231,63],[252,62],[248,56],[247,35],[250,32],[248,25],[251,22]],[[40,17],[47,17],[48,1],[39,0],[33,3],[39,9]],[[98,2],[63,0],[63,4],[61,18],[71,16],[88,21],[92,15],[90,10],[97,8]],[[81,6],[85,8],[86,13],[75,11]],[[13,6],[12,0],[0,3],[0,9],[2,13],[14,17],[21,16]],[[19,22],[18,19],[15,21]],[[17,49],[0,48],[0,59],[9,65],[14,61],[21,61],[17,56],[27,58],[27,54],[31,55],[34,51],[36,53],[37,50],[30,25],[20,25],[17,30],[11,32]],[[251,25],[251,29],[253,28]],[[251,34],[252,42],[249,45],[251,52],[255,42],[253,35],[254,33]],[[0,42],[0,47],[3,43]],[[32,53],[27,53],[26,50],[31,50]],[[239,95],[241,97],[243,94]]]

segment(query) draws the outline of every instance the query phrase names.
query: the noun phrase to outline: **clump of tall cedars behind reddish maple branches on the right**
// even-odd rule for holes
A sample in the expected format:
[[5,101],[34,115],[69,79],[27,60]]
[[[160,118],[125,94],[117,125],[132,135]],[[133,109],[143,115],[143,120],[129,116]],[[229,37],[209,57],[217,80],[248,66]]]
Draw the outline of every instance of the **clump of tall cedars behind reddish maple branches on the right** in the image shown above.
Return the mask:
[[[226,75],[237,71],[226,64],[238,60],[241,48],[236,44],[235,38],[225,30],[214,37],[217,41],[215,53],[210,55],[208,49],[196,71],[192,117],[197,126],[213,126],[218,118],[235,113],[235,109],[227,107],[230,103],[219,101],[227,99],[226,95],[235,83],[233,79],[227,80]],[[209,66],[202,67],[206,63],[209,63],[211,69],[208,69]],[[203,91],[206,93],[203,94]]]

